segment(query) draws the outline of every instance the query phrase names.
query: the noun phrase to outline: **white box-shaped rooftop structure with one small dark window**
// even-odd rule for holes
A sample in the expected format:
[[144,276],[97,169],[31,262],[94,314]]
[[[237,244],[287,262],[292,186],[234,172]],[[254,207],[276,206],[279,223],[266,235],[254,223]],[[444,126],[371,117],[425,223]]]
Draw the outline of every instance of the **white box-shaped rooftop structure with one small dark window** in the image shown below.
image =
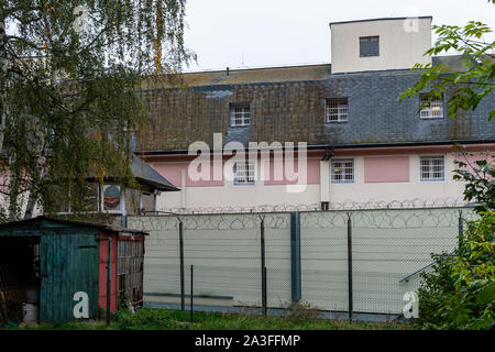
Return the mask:
[[330,23],[332,74],[430,64],[431,16]]

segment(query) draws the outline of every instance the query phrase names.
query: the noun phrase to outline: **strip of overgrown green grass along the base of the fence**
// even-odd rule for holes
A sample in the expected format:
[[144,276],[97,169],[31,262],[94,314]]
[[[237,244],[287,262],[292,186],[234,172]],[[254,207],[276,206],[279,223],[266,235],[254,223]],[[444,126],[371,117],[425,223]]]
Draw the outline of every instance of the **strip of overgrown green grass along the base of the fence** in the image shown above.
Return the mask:
[[36,330],[406,330],[409,324],[366,323],[321,320],[312,314],[290,314],[286,317],[257,317],[250,314],[189,312],[143,308],[136,312],[119,311],[110,327],[105,321],[78,321],[66,326],[12,327]]

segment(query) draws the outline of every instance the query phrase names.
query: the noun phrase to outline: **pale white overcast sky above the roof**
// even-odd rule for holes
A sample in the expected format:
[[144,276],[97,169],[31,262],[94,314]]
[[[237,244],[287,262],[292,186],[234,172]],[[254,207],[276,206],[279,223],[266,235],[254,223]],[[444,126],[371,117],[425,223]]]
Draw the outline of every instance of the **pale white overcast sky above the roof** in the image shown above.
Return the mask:
[[[188,0],[186,70],[330,62],[330,22],[432,15],[433,24],[471,20],[495,30],[487,0]],[[490,40],[493,40],[491,36]]]

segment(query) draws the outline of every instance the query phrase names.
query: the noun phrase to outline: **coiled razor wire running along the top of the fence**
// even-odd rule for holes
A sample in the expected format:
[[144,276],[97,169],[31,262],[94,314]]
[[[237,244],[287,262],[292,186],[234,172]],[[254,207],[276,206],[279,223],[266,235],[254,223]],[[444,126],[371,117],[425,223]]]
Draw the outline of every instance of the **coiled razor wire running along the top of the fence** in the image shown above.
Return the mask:
[[[477,215],[468,207],[345,209],[330,211],[300,211],[301,229],[453,229],[459,219],[475,220]],[[231,212],[231,213],[153,213],[129,217],[130,228],[144,231],[176,231],[179,222],[184,230],[246,230],[260,231],[261,220],[265,229],[289,229],[290,213],[280,212]],[[330,233],[329,232],[329,233]],[[329,234],[326,234],[329,235]]]

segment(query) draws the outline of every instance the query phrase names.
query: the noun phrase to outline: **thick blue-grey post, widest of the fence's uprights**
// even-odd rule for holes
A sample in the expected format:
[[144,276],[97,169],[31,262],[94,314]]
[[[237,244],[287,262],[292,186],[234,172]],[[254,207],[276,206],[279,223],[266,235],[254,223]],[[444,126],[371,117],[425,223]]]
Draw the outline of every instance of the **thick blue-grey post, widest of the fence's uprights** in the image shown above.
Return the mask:
[[293,302],[302,298],[300,272],[300,212],[290,213],[290,288]]

